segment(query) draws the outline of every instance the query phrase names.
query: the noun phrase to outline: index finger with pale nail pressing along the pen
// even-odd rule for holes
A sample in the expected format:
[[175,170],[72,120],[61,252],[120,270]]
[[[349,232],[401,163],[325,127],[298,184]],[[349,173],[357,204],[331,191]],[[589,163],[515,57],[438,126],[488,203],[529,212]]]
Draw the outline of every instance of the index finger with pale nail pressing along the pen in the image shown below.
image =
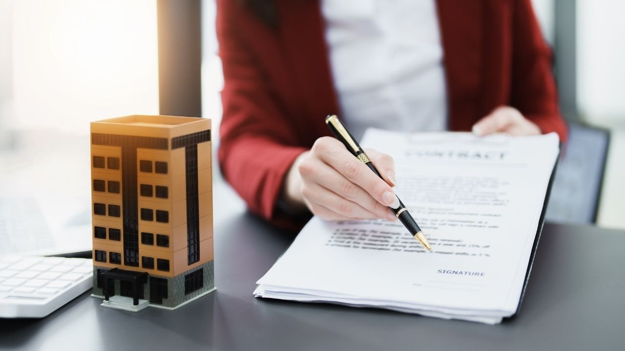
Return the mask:
[[341,142],[330,137],[322,137],[317,139],[311,152],[348,180],[364,189],[380,204],[393,208],[399,206],[399,200],[397,200],[391,186],[350,154]]

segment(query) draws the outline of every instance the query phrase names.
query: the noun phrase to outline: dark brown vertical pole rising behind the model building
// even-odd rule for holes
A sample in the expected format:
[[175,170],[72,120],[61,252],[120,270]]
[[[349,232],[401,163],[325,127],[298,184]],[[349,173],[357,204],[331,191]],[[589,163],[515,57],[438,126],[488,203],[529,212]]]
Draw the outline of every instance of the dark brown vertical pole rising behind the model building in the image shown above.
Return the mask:
[[202,117],[201,0],[158,0],[159,110]]

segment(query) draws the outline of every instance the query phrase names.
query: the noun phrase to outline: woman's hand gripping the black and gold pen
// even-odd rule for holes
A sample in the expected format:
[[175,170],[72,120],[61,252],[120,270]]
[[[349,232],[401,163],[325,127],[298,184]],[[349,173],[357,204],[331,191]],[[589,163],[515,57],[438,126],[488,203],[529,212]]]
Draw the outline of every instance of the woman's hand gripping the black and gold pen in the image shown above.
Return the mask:
[[367,149],[384,180],[347,151],[332,137],[321,137],[291,166],[282,198],[294,210],[306,207],[327,220],[395,220],[389,205],[399,205],[394,189],[394,162],[391,156]]

